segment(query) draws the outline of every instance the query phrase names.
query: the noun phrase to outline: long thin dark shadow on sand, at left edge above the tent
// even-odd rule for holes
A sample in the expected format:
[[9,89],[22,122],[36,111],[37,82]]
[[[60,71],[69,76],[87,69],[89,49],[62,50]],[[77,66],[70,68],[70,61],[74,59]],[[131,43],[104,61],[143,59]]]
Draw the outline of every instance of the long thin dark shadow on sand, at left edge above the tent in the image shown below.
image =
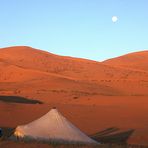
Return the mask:
[[43,104],[41,101],[27,99],[19,96],[0,96],[0,101],[7,103]]

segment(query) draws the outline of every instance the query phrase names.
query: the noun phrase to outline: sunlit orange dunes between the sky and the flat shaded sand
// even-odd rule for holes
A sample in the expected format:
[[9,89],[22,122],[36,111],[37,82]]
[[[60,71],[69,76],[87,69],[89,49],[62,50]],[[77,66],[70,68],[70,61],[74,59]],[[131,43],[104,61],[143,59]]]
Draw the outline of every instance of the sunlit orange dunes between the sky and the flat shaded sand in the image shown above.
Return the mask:
[[96,62],[26,46],[2,48],[0,94],[42,97],[42,93],[54,93],[71,98],[148,95],[147,57],[148,51],[144,51]]

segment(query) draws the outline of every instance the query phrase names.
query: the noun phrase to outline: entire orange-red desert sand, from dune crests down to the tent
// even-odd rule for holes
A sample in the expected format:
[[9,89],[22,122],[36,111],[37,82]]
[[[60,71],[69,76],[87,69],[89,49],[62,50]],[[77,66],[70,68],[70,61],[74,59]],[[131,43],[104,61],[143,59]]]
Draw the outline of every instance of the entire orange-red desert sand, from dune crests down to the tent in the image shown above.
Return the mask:
[[2,48],[0,95],[23,96],[45,104],[0,103],[0,126],[25,124],[56,105],[89,134],[112,126],[134,128],[130,142],[146,143],[147,56],[145,51],[96,62],[25,46]]

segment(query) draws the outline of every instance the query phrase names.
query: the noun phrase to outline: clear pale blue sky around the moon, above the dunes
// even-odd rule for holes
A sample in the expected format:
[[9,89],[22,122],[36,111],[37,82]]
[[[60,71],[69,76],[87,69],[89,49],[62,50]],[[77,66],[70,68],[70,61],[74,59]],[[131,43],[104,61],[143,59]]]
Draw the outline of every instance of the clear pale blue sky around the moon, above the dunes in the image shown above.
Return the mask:
[[148,1],[0,0],[0,48],[21,45],[96,61],[146,50]]

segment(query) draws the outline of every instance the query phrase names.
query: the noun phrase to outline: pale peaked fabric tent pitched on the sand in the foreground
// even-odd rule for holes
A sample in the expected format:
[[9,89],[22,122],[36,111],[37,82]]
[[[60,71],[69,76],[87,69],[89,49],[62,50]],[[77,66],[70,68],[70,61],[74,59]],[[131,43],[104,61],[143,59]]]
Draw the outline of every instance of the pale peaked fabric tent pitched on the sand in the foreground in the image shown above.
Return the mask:
[[97,144],[62,116],[56,108],[29,124],[18,126],[14,136],[60,143]]

